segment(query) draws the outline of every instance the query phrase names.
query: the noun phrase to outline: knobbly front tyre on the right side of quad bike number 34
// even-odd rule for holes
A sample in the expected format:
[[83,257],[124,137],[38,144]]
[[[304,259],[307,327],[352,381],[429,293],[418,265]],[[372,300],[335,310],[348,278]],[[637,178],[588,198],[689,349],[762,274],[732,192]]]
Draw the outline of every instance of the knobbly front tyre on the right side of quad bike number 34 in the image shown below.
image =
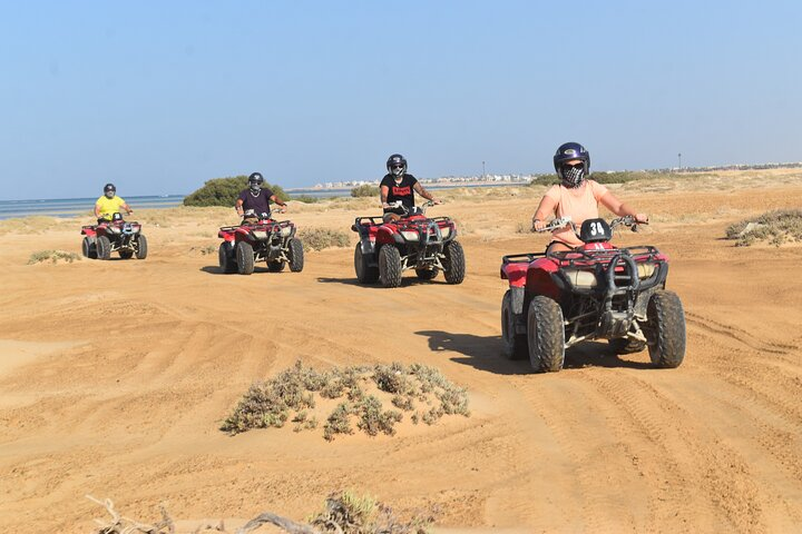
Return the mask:
[[679,367],[685,358],[685,312],[674,291],[655,291],[646,308],[649,358],[657,367]]

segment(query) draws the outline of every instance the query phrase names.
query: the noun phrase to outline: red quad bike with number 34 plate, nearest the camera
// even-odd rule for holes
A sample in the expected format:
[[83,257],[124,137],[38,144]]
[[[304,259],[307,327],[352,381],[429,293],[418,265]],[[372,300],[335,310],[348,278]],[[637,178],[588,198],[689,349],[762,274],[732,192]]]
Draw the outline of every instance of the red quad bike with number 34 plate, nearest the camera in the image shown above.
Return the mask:
[[[544,231],[570,224],[556,219]],[[685,314],[666,290],[668,257],[652,246],[617,248],[613,229],[637,230],[633,217],[586,220],[584,241],[573,250],[505,256],[501,278],[502,352],[529,357],[536,372],[563,368],[565,350],[583,340],[608,339],[617,354],[648,346],[657,367],[678,367],[685,357]]]

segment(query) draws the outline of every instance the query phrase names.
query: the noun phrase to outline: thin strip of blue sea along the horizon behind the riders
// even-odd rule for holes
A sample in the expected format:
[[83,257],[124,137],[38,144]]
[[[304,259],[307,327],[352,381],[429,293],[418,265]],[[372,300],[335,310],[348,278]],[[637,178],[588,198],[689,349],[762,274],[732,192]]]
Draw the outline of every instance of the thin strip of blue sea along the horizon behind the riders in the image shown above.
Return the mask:
[[[426,188],[430,190],[449,189],[453,187],[499,187],[499,186],[517,186],[525,184],[510,182],[489,182],[489,184],[449,184],[436,185],[426,184]],[[285,189],[291,197],[310,196],[319,198],[348,197],[351,189]],[[184,204],[185,195],[163,195],[163,196],[141,196],[124,197],[131,209],[158,209],[174,208]],[[36,200],[0,200],[0,220],[18,217],[31,216],[49,216],[49,217],[76,217],[92,215],[95,201],[92,198],[57,198],[57,199],[36,199]]]

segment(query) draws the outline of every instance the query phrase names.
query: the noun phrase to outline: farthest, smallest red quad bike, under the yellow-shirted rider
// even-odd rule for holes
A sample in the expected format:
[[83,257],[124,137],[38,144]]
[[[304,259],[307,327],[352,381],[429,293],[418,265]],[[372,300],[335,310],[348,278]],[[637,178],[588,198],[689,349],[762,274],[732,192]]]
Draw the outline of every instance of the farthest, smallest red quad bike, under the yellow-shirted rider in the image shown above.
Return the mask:
[[126,222],[123,215],[114,214],[111,220],[81,227],[84,256],[92,259],[110,259],[111,253],[123,259],[147,257],[147,239],[139,222]]

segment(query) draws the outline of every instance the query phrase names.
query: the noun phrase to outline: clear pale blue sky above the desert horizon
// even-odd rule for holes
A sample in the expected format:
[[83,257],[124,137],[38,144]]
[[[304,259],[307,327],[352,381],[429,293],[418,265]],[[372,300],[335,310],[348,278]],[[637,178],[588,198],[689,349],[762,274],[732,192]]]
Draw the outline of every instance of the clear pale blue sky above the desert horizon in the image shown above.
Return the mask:
[[802,2],[0,0],[0,199],[802,160]]

